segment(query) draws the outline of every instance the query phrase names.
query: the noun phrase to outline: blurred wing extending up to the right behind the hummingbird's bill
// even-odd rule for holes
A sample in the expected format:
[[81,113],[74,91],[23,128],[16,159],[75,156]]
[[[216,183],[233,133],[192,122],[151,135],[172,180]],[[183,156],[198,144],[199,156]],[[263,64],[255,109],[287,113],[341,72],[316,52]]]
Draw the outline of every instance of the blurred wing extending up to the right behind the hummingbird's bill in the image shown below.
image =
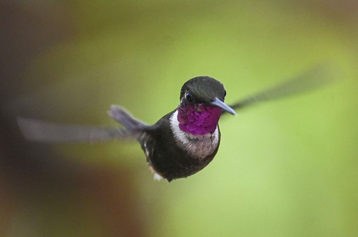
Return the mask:
[[286,96],[293,96],[316,90],[330,84],[337,78],[337,76],[334,76],[336,74],[336,71],[333,71],[334,68],[335,67],[328,66],[327,64],[319,65],[315,68],[311,68],[299,76],[290,78],[281,84],[244,98],[232,104],[230,107],[237,110],[258,102],[279,99]]

